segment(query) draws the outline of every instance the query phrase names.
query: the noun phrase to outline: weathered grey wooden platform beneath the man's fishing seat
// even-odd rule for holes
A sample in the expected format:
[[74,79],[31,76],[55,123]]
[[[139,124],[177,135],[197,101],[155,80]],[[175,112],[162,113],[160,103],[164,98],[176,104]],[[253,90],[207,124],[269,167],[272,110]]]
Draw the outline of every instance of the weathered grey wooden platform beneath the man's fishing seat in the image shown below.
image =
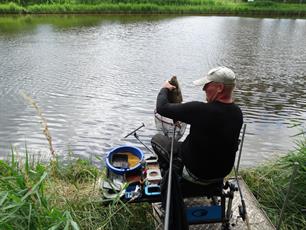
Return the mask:
[[[233,178],[230,178],[230,180]],[[232,218],[230,221],[231,229],[233,230],[275,230],[275,227],[272,225],[271,221],[268,219],[264,211],[260,208],[259,203],[245,184],[245,182],[239,178],[239,184],[242,190],[242,194],[246,203],[247,216],[249,219],[249,227],[239,216],[238,205],[241,204],[239,192],[235,192],[232,206]],[[205,205],[209,204],[210,200],[206,198],[188,198],[184,199],[187,207],[194,205]],[[156,230],[163,229],[163,210],[161,209],[160,203],[153,203],[153,215],[156,223]],[[220,230],[221,224],[201,224],[201,225],[190,225],[190,230]]]

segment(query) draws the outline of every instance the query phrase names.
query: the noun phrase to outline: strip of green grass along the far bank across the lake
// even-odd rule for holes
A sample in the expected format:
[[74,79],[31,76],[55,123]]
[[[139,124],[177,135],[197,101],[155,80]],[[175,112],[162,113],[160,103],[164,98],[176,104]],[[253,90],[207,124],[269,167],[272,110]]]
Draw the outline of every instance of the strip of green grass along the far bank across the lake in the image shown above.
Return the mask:
[[[256,0],[255,0],[256,1]],[[306,17],[306,4],[272,1],[233,2],[225,0],[98,0],[1,3],[0,14],[210,14],[237,16]],[[22,1],[19,1],[19,3]],[[62,2],[62,3],[60,3]]]

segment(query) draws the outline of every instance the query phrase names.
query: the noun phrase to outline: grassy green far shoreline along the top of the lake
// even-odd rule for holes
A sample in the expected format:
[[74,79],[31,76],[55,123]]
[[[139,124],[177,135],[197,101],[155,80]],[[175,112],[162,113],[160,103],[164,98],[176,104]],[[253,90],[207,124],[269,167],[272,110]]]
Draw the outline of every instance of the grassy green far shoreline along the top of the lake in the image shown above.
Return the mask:
[[306,4],[286,3],[224,3],[211,5],[155,4],[155,3],[99,3],[99,4],[36,4],[20,6],[0,4],[0,15],[53,15],[53,14],[122,14],[122,15],[205,15],[271,18],[306,18]]

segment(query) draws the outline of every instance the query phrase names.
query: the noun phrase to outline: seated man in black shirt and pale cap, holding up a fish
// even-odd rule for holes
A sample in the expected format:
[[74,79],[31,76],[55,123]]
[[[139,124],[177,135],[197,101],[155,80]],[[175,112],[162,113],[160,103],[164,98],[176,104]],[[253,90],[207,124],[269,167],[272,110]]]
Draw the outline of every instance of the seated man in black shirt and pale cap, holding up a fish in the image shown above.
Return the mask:
[[[186,139],[174,144],[173,168],[189,181],[207,184],[223,180],[230,173],[238,149],[243,115],[234,103],[236,77],[231,69],[214,68],[194,84],[202,87],[207,103],[171,103],[169,96],[176,87],[166,81],[157,96],[156,111],[174,121],[190,124]],[[157,134],[151,143],[159,156],[161,168],[166,170],[171,139]]]

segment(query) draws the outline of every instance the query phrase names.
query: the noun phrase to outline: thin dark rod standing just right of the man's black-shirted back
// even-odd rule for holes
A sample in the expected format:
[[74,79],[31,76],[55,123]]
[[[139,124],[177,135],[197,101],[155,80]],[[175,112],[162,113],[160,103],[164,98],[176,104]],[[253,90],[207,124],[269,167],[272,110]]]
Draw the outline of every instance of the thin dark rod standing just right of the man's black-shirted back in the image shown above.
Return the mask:
[[245,200],[243,198],[241,187],[240,187],[239,180],[238,180],[238,168],[239,168],[239,163],[240,163],[240,158],[241,158],[242,146],[243,146],[243,142],[244,142],[245,130],[246,130],[246,124],[244,124],[244,126],[243,126],[240,149],[239,149],[239,156],[238,156],[238,162],[237,162],[237,167],[235,167],[235,165],[234,165],[234,172],[235,172],[235,178],[236,178],[236,181],[237,181],[238,191],[239,191],[240,200],[241,200],[241,205],[238,206],[239,215],[241,216],[241,218],[243,220],[246,221],[247,228],[251,229],[250,223],[249,223],[249,218],[248,218],[248,215],[247,215]]

